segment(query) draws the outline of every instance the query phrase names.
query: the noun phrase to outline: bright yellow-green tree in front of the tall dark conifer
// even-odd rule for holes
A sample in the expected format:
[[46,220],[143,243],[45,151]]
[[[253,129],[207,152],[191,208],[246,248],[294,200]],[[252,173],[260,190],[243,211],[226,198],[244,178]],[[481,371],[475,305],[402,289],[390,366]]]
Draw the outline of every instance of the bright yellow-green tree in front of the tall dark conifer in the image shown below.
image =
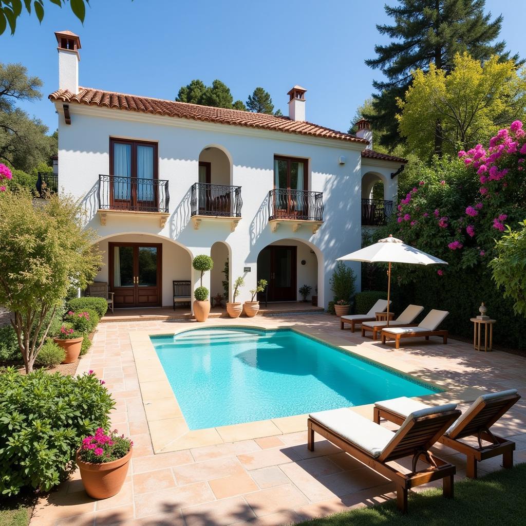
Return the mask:
[[493,56],[481,64],[467,53],[457,54],[449,75],[433,63],[428,73],[414,72],[398,106],[400,133],[410,150],[431,157],[438,135],[442,152],[456,155],[524,116],[526,77],[517,73],[513,60],[499,62]]

